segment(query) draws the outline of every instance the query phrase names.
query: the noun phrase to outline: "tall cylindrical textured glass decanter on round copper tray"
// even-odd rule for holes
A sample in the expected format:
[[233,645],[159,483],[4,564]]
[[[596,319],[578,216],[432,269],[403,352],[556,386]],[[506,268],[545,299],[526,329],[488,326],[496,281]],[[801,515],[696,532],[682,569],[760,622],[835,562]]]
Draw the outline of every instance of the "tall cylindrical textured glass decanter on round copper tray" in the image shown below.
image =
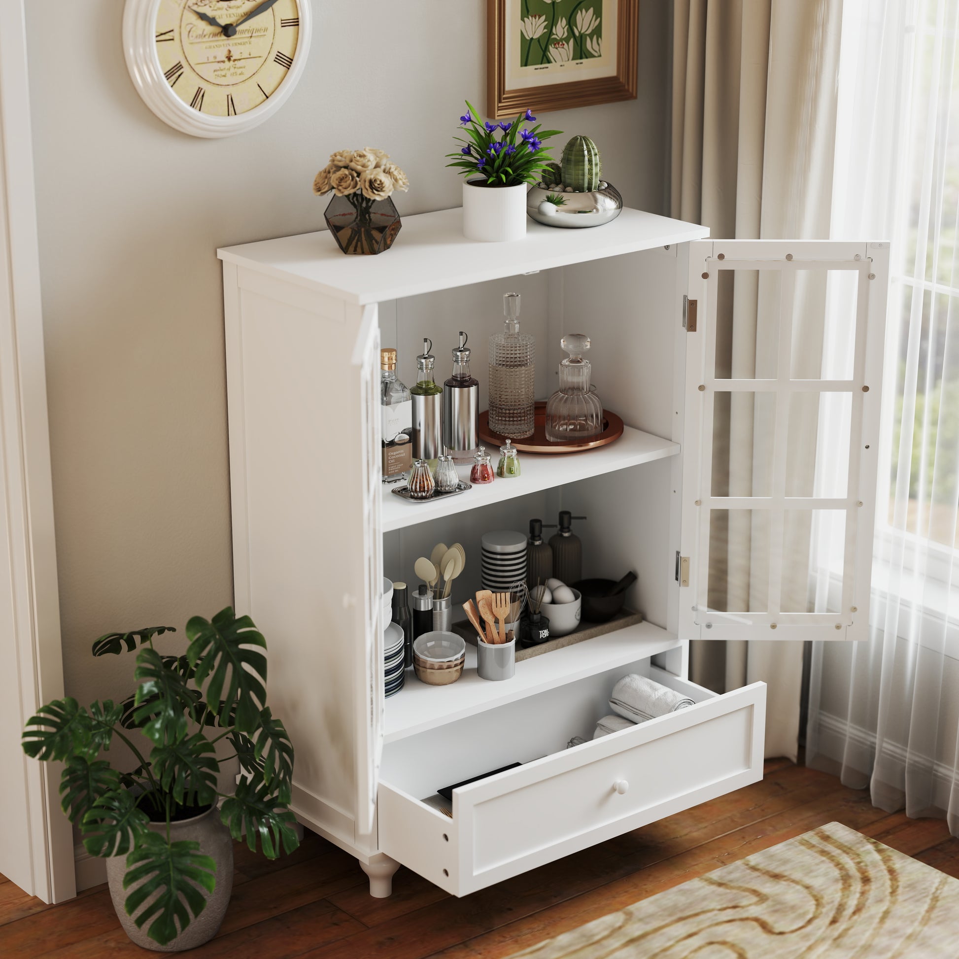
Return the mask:
[[520,333],[520,294],[503,296],[503,333],[489,338],[489,428],[522,439],[533,434],[536,342]]

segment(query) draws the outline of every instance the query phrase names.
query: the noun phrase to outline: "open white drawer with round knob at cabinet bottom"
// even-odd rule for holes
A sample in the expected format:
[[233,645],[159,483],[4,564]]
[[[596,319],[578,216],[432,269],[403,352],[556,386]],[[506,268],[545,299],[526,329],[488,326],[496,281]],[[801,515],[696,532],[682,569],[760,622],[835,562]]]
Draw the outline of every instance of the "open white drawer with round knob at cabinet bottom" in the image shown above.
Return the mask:
[[[620,677],[637,672],[695,705],[589,739]],[[379,847],[456,896],[524,873],[762,778],[765,685],[716,695],[648,660],[478,713],[384,750]],[[435,793],[512,762],[453,793]]]

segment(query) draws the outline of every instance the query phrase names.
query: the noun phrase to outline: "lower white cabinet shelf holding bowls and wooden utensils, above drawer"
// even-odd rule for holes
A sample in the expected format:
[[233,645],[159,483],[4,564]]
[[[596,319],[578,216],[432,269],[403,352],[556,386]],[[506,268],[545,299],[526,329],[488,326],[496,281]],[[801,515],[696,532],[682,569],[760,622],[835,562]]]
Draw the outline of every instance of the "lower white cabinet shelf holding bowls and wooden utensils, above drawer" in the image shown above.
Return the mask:
[[516,675],[497,683],[479,678],[476,646],[467,643],[466,666],[456,683],[427,686],[408,670],[403,689],[386,700],[384,742],[394,742],[607,669],[635,663],[678,644],[674,633],[651,622],[639,622],[517,663]]

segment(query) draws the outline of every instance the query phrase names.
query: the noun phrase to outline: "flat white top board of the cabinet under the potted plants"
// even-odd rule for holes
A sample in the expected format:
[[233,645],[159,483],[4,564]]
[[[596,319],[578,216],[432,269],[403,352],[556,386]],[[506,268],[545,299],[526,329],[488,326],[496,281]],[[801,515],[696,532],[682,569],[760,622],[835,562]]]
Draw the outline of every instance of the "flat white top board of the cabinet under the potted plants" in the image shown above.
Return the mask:
[[624,209],[603,226],[558,229],[528,220],[523,240],[476,243],[463,236],[457,207],[405,217],[395,244],[378,256],[341,253],[327,230],[225,246],[217,255],[362,306],[707,236],[706,226]]

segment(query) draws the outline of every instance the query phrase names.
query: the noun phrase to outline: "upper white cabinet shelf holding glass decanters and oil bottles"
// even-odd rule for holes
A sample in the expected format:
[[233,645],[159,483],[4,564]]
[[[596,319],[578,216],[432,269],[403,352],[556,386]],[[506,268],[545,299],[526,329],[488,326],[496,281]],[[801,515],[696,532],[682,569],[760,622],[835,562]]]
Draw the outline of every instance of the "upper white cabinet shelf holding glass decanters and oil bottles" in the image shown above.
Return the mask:
[[[385,485],[383,488],[383,531],[402,529],[441,516],[452,516],[466,509],[476,509],[490,503],[503,503],[527,493],[564,486],[577,479],[588,479],[603,473],[626,469],[639,463],[648,463],[666,456],[676,456],[680,446],[668,439],[632,430],[626,427],[615,443],[600,446],[584,453],[567,453],[557,456],[521,454],[522,474],[510,479],[495,479],[487,486],[474,486],[461,496],[443,497],[428,503],[409,503],[394,496]],[[495,451],[494,465],[496,462]],[[459,467],[462,479],[469,477],[468,467]]]

